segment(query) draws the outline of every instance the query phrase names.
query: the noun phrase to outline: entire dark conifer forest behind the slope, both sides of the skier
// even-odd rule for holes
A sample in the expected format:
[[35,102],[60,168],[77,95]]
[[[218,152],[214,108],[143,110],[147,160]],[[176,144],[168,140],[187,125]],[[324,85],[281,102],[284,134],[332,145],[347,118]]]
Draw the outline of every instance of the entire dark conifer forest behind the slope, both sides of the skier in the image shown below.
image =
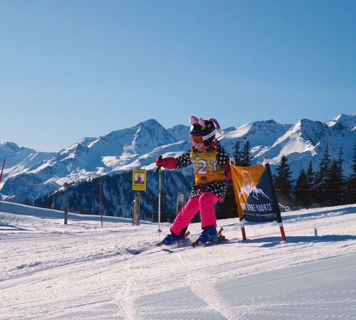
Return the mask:
[[[251,145],[247,141],[241,148],[240,143],[234,146],[234,161],[237,166],[251,165]],[[328,147],[323,151],[318,171],[313,171],[310,161],[308,169],[301,169],[296,180],[291,178],[292,172],[287,156],[282,156],[281,164],[273,176],[278,203],[296,210],[318,206],[337,206],[356,202],[356,142],[353,156],[353,173],[346,177],[343,173],[342,149],[337,159],[331,159]],[[101,179],[101,181],[100,181]],[[154,171],[147,171],[147,191],[142,192],[141,218],[158,220],[158,178]],[[181,171],[164,171],[162,183],[161,221],[172,222],[176,215],[177,194],[189,195],[190,183]],[[101,185],[100,185],[101,183]],[[100,188],[103,198],[100,203]],[[115,215],[131,218],[133,210],[132,172],[106,175],[91,178],[87,181],[65,184],[59,191],[29,201],[26,204],[64,210],[66,201],[70,212],[99,215],[103,208],[104,215]],[[216,206],[216,217],[236,218],[237,209],[234,186],[229,182],[224,203]],[[194,220],[199,220],[199,215]]]

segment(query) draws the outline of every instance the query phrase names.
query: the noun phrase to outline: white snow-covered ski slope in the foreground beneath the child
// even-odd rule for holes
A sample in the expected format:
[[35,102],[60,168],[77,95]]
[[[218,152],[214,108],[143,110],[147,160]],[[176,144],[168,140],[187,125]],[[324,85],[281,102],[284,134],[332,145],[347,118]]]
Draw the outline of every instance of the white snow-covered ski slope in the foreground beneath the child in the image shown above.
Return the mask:
[[0,319],[356,319],[356,204],[283,222],[286,243],[273,223],[241,241],[236,218],[221,245],[130,255],[156,224],[1,202]]

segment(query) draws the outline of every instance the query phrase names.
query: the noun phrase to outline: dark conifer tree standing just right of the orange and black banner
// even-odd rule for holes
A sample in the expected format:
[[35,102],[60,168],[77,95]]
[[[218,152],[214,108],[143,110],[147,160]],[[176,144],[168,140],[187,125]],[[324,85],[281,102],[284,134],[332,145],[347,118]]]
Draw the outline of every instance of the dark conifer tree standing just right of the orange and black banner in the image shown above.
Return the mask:
[[278,197],[278,201],[284,206],[290,206],[291,197],[290,189],[292,187],[290,166],[288,164],[287,157],[283,154],[281,158],[281,164],[276,169],[277,176],[275,177],[275,188]]

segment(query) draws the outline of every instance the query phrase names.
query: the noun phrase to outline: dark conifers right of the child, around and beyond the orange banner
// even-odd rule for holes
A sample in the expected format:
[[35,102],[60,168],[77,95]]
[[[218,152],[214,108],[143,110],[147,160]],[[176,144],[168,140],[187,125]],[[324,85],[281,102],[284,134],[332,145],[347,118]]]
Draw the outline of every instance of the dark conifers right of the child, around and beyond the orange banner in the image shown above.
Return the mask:
[[[246,142],[240,150],[239,142],[234,147],[236,166],[251,165],[250,143]],[[338,206],[356,202],[356,141],[352,158],[352,174],[345,176],[343,171],[342,148],[337,159],[331,159],[328,146],[323,151],[318,171],[313,171],[312,161],[308,169],[301,169],[296,180],[293,180],[287,156],[282,156],[281,164],[273,176],[278,203],[292,210],[320,206]],[[218,218],[235,218],[237,216],[234,186],[229,183],[224,203],[216,207]]]

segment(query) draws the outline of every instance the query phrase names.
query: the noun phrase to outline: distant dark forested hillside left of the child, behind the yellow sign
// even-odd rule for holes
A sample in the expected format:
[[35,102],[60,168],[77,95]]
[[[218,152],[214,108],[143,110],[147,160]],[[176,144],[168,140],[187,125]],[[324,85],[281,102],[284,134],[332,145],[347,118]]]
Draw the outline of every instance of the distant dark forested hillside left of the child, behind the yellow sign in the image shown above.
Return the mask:
[[[162,174],[161,221],[172,222],[175,217],[177,193],[189,193],[190,185],[181,172]],[[173,186],[173,187],[172,187]],[[140,192],[142,220],[158,220],[158,177],[155,171],[147,171],[147,190]],[[88,180],[65,183],[61,189],[25,204],[41,208],[68,210],[86,215],[103,215],[132,218],[135,191],[132,191],[132,171],[105,175]]]

